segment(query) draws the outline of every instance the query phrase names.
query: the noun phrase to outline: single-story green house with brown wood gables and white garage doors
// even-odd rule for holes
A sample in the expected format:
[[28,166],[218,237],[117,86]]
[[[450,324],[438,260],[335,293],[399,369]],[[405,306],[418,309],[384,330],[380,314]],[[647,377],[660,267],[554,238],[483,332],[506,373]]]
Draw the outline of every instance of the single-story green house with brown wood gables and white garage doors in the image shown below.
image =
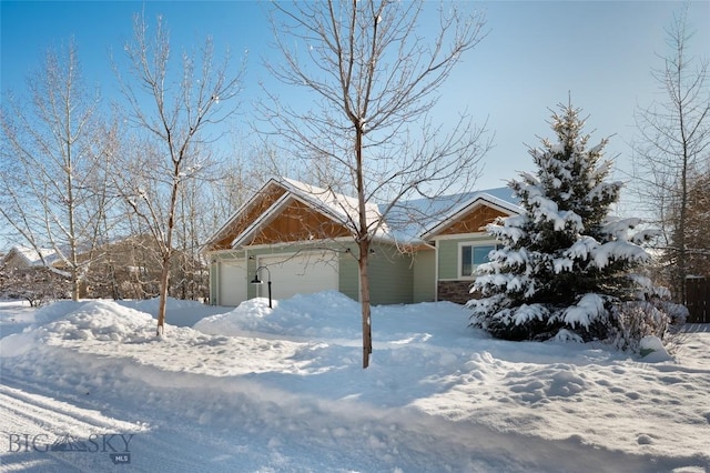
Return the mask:
[[[290,179],[272,179],[203,245],[210,300],[237,305],[336,290],[359,299],[353,222],[357,201]],[[383,210],[371,204],[367,221]],[[402,202],[374,232],[368,274],[373,304],[470,299],[475,266],[496,241],[485,225],[519,214],[508,188]],[[271,284],[251,284],[254,279]]]

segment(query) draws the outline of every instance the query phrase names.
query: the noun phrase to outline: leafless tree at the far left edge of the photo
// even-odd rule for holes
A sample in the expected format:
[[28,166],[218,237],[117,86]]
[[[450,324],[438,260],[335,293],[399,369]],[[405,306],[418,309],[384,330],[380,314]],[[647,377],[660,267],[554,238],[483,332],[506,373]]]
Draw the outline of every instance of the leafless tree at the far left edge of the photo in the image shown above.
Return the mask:
[[48,52],[28,88],[30,100],[3,100],[0,214],[38,254],[55,251],[77,300],[89,263],[80,253],[95,245],[109,202],[111,141],[98,132],[100,95],[82,82],[73,41]]

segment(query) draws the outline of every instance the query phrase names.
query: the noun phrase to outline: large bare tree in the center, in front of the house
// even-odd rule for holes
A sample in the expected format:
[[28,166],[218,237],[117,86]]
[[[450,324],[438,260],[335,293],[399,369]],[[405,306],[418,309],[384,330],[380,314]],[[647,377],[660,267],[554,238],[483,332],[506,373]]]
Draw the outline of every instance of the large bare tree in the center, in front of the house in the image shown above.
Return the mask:
[[[273,103],[262,108],[268,131],[311,161],[320,185],[357,197],[356,205],[338,203],[358,246],[363,368],[372,353],[374,236],[398,202],[440,195],[455,182],[473,184],[489,145],[466,115],[448,132],[429,118],[439,87],[485,37],[483,17],[443,3],[429,42],[417,29],[428,22],[425,8],[424,1],[296,2],[275,3],[272,16],[283,62],[267,67],[281,82],[302,88],[300,99],[313,107],[285,104],[265,89]],[[371,212],[383,204],[379,214]]]

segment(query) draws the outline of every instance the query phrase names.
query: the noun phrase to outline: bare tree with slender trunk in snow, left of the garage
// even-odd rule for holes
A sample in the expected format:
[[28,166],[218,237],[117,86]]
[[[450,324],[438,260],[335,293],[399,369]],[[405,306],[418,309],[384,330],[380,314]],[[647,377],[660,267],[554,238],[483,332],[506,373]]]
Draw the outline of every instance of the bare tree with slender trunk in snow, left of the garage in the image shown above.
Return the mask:
[[[232,71],[230,54],[216,62],[212,40],[199,52],[183,52],[172,68],[170,34],[159,17],[154,36],[143,16],[134,17],[134,38],[125,44],[130,76],[115,71],[130,104],[136,139],[129,162],[115,173],[118,189],[142,219],[161,254],[158,334],[164,332],[165,301],[173,256],[176,209],[182,187],[210,167],[204,150],[219,124],[239,107],[243,67]],[[219,134],[219,133],[217,133]]]

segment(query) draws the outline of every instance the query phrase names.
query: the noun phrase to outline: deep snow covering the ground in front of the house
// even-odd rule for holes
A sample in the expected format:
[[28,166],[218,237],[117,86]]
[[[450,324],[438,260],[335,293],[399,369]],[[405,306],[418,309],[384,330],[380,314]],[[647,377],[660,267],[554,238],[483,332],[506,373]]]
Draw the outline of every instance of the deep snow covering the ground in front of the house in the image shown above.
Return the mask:
[[[710,471],[710,326],[514,343],[450,303],[0,302],[0,471]],[[130,463],[129,463],[130,462]]]

